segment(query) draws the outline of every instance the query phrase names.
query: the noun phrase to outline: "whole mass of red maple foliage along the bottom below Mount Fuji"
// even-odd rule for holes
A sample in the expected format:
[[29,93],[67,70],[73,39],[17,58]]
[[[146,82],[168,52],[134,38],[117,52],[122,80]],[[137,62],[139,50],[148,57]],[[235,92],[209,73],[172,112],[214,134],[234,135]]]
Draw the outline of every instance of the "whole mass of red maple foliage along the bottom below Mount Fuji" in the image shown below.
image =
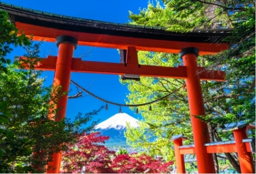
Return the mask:
[[168,173],[173,161],[163,162],[147,154],[120,154],[104,144],[108,136],[99,132],[78,136],[77,143],[63,152],[62,173]]

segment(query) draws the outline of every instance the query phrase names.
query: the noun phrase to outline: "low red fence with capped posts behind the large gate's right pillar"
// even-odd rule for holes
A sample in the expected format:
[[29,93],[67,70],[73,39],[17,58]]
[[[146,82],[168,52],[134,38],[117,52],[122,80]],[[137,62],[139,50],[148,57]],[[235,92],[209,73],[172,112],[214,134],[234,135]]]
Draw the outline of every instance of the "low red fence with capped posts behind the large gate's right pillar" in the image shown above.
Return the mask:
[[[252,152],[255,152],[255,138],[249,139],[247,129],[255,129],[255,125],[248,123],[238,124],[223,129],[223,131],[233,131],[234,140],[205,143],[207,153],[229,153],[237,152],[241,173],[255,173]],[[171,141],[174,143],[175,160],[177,173],[185,173],[185,154],[195,154],[195,145],[183,146],[186,140],[183,134],[173,136]]]

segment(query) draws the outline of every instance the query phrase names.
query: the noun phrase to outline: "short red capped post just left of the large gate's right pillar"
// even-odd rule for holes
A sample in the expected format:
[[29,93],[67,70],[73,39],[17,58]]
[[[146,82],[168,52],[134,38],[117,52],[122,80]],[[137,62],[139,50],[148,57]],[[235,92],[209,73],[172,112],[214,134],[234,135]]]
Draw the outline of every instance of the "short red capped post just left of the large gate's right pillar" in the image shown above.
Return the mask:
[[184,155],[180,154],[179,152],[179,146],[182,146],[183,139],[185,140],[187,138],[185,138],[183,135],[177,135],[171,139],[171,141],[173,141],[174,143],[174,153],[175,153],[177,173],[186,173]]

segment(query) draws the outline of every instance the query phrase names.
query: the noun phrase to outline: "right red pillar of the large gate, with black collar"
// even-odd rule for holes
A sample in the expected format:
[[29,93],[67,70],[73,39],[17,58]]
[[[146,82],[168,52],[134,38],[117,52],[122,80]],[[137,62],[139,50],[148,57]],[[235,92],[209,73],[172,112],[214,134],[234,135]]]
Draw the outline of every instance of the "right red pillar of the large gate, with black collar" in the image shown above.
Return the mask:
[[185,48],[179,52],[179,56],[182,57],[183,64],[187,67],[186,86],[198,172],[215,173],[213,156],[207,153],[204,146],[205,143],[210,142],[207,124],[194,117],[195,115],[205,115],[202,88],[198,75],[198,53],[197,48]]

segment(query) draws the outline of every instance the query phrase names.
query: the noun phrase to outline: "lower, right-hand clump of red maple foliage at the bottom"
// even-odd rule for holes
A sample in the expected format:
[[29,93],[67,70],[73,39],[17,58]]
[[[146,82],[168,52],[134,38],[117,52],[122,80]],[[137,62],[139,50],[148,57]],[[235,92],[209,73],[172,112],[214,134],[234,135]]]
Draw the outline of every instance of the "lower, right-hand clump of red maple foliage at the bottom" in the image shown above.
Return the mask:
[[111,168],[117,173],[169,173],[169,166],[173,165],[173,161],[164,163],[160,159],[153,159],[149,155],[124,154],[117,155],[113,159]]

